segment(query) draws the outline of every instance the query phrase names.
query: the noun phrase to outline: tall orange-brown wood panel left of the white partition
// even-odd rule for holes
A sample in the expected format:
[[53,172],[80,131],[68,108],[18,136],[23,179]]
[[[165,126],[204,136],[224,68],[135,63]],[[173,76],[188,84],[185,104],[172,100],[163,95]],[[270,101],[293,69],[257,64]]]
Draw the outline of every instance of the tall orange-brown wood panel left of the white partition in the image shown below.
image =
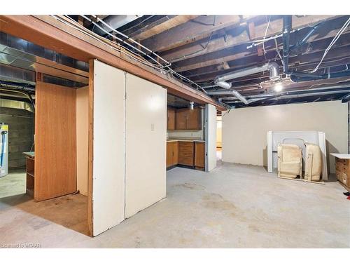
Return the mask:
[[76,191],[75,89],[36,83],[35,134],[35,200]]

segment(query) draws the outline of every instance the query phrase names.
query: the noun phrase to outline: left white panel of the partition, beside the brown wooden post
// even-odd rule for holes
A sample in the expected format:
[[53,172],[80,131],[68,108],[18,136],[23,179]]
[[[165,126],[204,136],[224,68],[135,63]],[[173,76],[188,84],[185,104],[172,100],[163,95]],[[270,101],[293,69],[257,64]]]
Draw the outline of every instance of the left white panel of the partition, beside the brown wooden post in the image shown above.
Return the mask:
[[125,219],[125,72],[94,60],[93,235]]

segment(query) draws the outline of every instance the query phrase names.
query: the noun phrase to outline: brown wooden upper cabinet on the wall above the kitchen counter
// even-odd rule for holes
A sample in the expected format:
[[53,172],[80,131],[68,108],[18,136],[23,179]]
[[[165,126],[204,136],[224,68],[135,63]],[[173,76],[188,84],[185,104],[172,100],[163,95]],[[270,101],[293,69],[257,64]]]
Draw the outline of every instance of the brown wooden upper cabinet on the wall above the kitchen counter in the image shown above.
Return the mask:
[[202,111],[195,109],[176,109],[176,130],[201,130]]

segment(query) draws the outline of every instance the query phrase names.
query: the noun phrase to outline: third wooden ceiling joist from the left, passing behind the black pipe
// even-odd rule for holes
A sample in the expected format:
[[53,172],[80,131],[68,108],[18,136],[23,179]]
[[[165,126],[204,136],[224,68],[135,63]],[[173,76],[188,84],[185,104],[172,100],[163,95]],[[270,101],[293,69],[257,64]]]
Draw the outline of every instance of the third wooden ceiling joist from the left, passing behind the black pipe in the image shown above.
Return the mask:
[[[293,16],[292,26],[293,29],[300,29],[307,27],[308,25],[314,25],[315,23],[321,22],[323,20],[331,20],[337,17],[338,16],[336,15],[307,15],[302,18]],[[248,25],[250,25],[250,23],[251,22],[248,22]],[[162,53],[162,57],[169,62],[179,62],[181,60],[188,60],[189,58],[206,55],[219,50],[223,50],[225,48],[232,48],[242,43],[248,43],[254,39],[262,39],[264,37],[267,23],[254,25],[254,32],[250,32],[251,35],[249,34],[248,25],[246,27],[229,29],[226,31],[227,34],[225,36],[219,36],[216,39],[211,39],[211,41],[209,41],[209,39],[201,39],[200,41],[190,43],[189,45],[181,46],[181,48],[168,50],[166,53]],[[266,36],[274,36],[281,33],[281,31],[282,20],[279,18],[270,22]],[[311,36],[311,39],[314,39],[316,37],[316,35]],[[204,46],[207,46],[207,48],[204,49]]]

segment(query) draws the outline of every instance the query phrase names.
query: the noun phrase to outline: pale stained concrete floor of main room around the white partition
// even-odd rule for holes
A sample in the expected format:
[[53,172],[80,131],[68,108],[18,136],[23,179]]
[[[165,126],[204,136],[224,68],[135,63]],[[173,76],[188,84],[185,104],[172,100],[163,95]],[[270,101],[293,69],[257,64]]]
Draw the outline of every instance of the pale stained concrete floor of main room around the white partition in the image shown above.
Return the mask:
[[[1,205],[0,243],[63,248],[349,248],[350,201],[337,182],[278,179],[225,163],[167,172],[167,198],[90,238]],[[20,218],[20,223],[13,222]],[[11,223],[13,222],[13,223]]]

